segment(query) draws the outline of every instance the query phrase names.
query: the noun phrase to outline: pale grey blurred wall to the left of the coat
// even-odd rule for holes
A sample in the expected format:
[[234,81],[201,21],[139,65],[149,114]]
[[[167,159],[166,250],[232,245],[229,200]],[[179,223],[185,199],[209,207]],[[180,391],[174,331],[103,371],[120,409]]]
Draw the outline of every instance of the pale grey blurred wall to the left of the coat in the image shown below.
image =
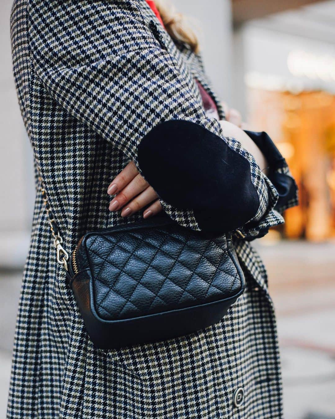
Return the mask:
[[21,119],[12,75],[11,0],[0,2],[0,266],[22,265],[27,253],[33,203],[32,153]]

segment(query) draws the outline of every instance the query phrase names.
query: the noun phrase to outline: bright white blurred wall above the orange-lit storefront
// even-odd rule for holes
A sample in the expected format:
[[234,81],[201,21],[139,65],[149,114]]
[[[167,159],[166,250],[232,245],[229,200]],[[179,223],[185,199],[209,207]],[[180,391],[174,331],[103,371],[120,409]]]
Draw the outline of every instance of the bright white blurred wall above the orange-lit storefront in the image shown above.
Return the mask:
[[235,26],[235,106],[245,109],[245,82],[268,91],[335,93],[334,21],[335,1],[325,1]]

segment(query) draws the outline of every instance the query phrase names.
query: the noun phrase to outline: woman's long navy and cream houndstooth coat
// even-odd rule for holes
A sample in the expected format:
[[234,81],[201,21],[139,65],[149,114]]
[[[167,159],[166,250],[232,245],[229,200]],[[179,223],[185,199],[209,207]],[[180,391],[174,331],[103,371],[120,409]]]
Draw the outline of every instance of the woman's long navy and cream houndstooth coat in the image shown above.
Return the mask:
[[[239,142],[224,138],[219,123],[207,118],[195,80],[214,98],[222,119],[224,114],[200,56],[170,39],[145,0],[16,0],[11,33],[15,83],[36,162],[36,204],[8,418],[282,417],[276,320],[264,266],[250,245],[283,222],[283,209],[296,204],[294,181],[271,140],[263,149],[271,162],[270,180]],[[219,138],[217,147],[247,162],[252,211],[248,202],[242,213],[234,199],[217,201],[218,211],[208,217],[209,208],[196,207],[193,197],[189,206],[171,198],[164,179],[157,184],[161,202],[170,217],[197,230],[213,228],[208,218],[223,229],[225,211],[239,212],[234,228],[245,238],[235,238],[235,247],[245,293],[222,321],[198,333],[97,349],[56,262],[39,175],[71,251],[88,230],[140,219],[108,212],[106,187],[130,159],[155,181],[150,164],[138,155],[144,138],[150,148],[152,133],[177,136],[176,161],[190,168],[178,149],[188,127],[202,129],[209,142]],[[163,151],[166,146],[162,142]],[[198,168],[199,185],[207,170],[211,173],[210,167]],[[244,187],[238,176],[232,181],[234,188]],[[219,188],[225,193],[227,182]]]

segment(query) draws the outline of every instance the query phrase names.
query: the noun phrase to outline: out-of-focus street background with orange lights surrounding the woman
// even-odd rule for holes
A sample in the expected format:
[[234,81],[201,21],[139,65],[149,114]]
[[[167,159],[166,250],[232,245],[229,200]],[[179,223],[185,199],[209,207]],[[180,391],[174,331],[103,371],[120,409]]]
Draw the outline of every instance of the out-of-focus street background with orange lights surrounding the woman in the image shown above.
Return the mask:
[[[34,200],[11,70],[11,3],[0,3],[0,417]],[[278,314],[284,417],[335,419],[335,1],[175,4],[196,19],[216,91],[251,129],[268,132],[299,185],[299,207],[255,246]]]

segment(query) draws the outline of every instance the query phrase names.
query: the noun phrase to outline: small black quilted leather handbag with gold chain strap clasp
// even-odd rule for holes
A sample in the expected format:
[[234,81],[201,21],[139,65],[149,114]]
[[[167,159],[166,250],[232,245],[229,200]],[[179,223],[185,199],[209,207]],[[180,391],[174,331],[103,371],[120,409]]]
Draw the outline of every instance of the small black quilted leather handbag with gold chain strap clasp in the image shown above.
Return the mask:
[[167,216],[86,233],[69,257],[48,207],[57,261],[101,349],[183,336],[220,321],[245,288],[229,235]]

